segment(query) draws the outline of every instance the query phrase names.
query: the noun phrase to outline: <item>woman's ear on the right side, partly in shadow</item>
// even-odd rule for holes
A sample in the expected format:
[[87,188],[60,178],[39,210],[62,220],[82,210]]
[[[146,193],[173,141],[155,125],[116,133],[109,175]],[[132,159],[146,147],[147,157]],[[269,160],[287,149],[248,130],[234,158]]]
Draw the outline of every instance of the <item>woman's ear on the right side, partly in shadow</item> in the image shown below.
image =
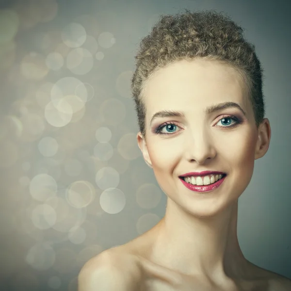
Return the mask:
[[263,157],[270,145],[271,126],[268,118],[264,118],[258,129],[258,141],[256,145],[255,160]]

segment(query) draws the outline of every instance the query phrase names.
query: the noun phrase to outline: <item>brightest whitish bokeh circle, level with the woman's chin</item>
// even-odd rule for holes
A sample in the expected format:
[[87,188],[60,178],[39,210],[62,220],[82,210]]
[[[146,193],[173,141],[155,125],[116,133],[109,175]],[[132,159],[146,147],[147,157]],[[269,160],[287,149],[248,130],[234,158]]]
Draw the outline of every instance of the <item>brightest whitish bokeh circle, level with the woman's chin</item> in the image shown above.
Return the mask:
[[116,214],[125,207],[126,199],[124,193],[116,188],[109,188],[100,195],[101,208],[109,213]]

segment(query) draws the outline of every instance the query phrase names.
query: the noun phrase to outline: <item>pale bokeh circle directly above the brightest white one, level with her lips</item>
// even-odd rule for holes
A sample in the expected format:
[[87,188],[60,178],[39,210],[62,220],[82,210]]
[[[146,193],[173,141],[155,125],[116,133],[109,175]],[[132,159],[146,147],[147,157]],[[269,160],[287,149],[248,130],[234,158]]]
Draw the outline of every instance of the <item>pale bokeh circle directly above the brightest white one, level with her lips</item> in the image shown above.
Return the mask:
[[119,173],[111,167],[103,167],[96,173],[95,181],[102,190],[115,188],[119,184]]

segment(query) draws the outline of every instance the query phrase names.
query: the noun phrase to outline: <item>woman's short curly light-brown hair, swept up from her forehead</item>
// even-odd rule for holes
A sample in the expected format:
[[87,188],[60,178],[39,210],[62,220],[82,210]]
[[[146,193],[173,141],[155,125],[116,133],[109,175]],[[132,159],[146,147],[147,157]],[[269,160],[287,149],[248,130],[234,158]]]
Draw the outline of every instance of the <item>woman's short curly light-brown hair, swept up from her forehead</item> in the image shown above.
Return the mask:
[[156,71],[180,60],[202,58],[223,63],[238,73],[246,85],[257,128],[264,119],[263,70],[255,46],[229,16],[215,10],[161,15],[152,31],[142,38],[131,78],[131,92],[139,130],[146,138],[146,81]]

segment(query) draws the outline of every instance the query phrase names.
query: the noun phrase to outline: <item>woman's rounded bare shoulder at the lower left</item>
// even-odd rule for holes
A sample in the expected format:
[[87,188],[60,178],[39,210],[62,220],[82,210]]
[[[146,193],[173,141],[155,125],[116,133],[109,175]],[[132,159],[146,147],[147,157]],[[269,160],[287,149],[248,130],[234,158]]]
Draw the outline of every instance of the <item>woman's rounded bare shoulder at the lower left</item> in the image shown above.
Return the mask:
[[78,275],[78,291],[136,290],[138,270],[129,264],[129,260],[128,256],[111,249],[90,259]]

